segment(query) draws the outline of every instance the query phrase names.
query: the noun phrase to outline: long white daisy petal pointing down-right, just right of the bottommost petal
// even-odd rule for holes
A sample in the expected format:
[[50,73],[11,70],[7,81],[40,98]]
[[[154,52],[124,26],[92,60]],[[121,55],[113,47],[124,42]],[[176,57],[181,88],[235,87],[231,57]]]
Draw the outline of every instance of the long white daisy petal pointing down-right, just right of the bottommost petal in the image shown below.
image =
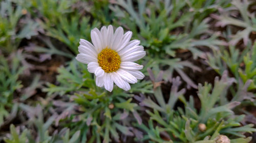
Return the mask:
[[129,91],[131,89],[131,86],[128,82],[124,81],[116,72],[111,73],[111,79],[115,82],[117,87]]

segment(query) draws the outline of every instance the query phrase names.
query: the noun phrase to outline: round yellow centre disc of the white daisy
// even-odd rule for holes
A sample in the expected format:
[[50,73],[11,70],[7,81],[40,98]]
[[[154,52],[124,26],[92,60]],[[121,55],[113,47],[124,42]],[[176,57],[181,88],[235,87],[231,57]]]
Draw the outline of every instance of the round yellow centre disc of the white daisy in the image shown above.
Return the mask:
[[114,72],[120,68],[121,59],[116,51],[106,47],[98,54],[98,63],[105,72]]

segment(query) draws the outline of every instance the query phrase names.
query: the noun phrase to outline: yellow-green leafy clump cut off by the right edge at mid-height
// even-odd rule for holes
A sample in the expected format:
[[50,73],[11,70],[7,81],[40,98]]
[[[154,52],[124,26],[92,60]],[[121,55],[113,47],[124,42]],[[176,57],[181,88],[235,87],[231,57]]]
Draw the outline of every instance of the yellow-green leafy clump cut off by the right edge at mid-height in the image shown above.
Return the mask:
[[242,52],[232,45],[228,50],[214,50],[213,54],[208,54],[207,63],[220,75],[230,69],[238,83],[240,79],[244,84],[250,81],[247,90],[256,89],[256,42],[254,45],[249,42]]

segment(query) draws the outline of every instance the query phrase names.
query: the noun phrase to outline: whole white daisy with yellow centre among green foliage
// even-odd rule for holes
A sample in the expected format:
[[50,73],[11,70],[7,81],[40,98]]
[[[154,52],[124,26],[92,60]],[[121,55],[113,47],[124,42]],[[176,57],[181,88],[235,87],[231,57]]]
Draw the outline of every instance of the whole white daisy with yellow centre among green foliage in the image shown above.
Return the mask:
[[129,83],[143,79],[142,65],[134,63],[143,58],[146,52],[139,40],[132,40],[132,32],[123,34],[123,28],[118,27],[115,33],[112,25],[103,26],[99,31],[91,31],[93,45],[80,39],[79,54],[76,60],[88,64],[88,71],[96,75],[96,85],[111,92],[114,83],[121,89],[131,89]]

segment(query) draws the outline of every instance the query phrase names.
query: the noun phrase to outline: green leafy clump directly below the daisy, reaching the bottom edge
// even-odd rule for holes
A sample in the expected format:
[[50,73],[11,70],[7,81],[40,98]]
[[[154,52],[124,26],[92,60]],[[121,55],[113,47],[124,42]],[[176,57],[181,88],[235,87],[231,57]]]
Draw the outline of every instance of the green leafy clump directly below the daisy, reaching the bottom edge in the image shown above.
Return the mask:
[[[106,95],[104,92],[91,91],[88,93],[76,94],[76,97],[74,97],[75,102],[81,105],[79,110],[81,113],[69,119],[78,118],[77,122],[68,124],[72,131],[81,130],[81,142],[89,140],[102,142],[101,137],[103,142],[111,142],[110,135],[114,137],[113,139],[119,140],[117,130],[128,136],[134,135],[131,132],[129,119],[126,118],[129,115],[131,116],[131,113],[136,113],[136,107],[138,106],[136,103],[131,103],[131,98],[126,101],[124,97]],[[90,97],[93,99],[90,99]],[[125,118],[126,121],[123,121]],[[90,138],[86,135],[89,132],[92,133]]]

